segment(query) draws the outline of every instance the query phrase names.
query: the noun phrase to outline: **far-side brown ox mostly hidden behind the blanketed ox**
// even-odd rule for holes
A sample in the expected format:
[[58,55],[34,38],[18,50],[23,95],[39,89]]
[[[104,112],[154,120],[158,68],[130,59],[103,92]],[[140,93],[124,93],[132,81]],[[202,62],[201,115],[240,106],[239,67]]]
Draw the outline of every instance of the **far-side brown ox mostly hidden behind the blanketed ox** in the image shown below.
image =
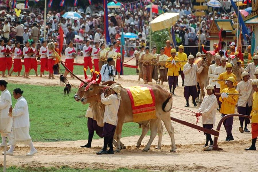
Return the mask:
[[[102,83],[102,85],[112,85],[113,83],[116,83],[114,81],[106,81],[104,83]],[[83,97],[84,93],[85,93],[85,87],[86,84],[83,85],[83,87],[79,88],[77,93],[74,95],[74,99],[76,101],[80,101],[81,98]],[[105,110],[105,105],[101,105],[99,106],[99,103],[97,102],[97,99],[93,99],[93,101],[91,101],[91,108],[93,111],[93,118],[97,121],[98,124],[100,124],[101,126],[103,125],[103,116],[104,116],[104,110]],[[140,136],[140,138],[137,141],[136,147],[139,148],[142,142],[142,139],[146,136],[148,130],[150,129],[149,123],[146,125],[141,125],[140,127],[142,128],[142,134]],[[158,135],[159,135],[159,141],[158,141],[158,145],[157,145],[157,149],[161,149],[161,140],[162,140],[162,133],[163,133],[163,126],[161,123],[161,120],[158,121],[157,123],[157,128],[158,128]],[[116,132],[114,135],[114,140],[113,140],[113,144],[115,146],[117,146],[117,142],[116,140]],[[121,148],[125,149],[126,146],[124,146],[124,144],[122,144],[122,142],[120,142],[121,144]]]

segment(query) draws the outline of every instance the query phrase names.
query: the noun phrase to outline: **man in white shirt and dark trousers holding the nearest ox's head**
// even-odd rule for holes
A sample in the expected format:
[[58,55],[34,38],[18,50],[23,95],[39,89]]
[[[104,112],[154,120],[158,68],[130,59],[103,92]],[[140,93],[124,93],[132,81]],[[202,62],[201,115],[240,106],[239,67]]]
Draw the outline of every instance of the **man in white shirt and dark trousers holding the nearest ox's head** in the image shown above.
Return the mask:
[[[117,113],[120,105],[120,91],[121,86],[117,85],[117,83],[110,85],[111,95],[105,98],[105,94],[102,93],[101,103],[105,105],[105,112],[104,112],[104,127],[103,133],[104,136],[104,146],[103,150],[97,152],[98,155],[101,154],[114,154],[113,150],[113,137],[116,130],[117,125]],[[107,151],[107,144],[109,144],[109,150]]]

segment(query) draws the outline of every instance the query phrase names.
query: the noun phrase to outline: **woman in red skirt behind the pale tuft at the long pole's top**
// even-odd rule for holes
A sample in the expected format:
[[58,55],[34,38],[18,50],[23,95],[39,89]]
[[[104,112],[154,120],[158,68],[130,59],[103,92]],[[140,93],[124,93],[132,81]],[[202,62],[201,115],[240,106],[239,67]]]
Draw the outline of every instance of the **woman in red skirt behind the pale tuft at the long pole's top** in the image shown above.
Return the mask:
[[48,56],[48,71],[49,71],[49,75],[48,75],[48,79],[55,79],[54,78],[54,70],[53,70],[53,66],[55,64],[55,56],[54,56],[54,52],[53,49],[55,48],[54,42],[49,42],[48,43],[48,51],[47,51],[47,56]]

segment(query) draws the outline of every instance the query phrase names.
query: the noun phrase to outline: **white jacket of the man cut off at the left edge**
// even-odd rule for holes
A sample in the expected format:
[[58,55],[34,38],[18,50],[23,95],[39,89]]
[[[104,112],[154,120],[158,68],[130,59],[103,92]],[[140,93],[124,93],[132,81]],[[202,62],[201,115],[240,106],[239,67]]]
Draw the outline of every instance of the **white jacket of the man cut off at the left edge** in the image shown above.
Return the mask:
[[11,132],[12,118],[8,116],[11,105],[11,94],[5,89],[0,95],[0,133],[8,134]]

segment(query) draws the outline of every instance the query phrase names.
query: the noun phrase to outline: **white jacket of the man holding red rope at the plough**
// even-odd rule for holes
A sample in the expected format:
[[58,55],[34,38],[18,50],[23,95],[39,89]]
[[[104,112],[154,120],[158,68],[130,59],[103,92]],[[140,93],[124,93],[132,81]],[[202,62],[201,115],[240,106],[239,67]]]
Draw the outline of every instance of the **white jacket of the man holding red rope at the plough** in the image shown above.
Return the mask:
[[215,124],[217,108],[216,96],[214,94],[206,95],[198,110],[198,112],[202,113],[202,124]]

